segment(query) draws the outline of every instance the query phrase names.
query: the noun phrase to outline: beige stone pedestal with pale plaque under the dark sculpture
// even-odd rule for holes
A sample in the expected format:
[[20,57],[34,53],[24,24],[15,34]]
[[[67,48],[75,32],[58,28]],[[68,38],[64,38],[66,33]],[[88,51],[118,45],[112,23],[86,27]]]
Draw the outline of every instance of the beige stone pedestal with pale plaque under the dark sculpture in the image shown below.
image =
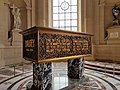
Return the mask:
[[107,44],[120,44],[120,26],[112,26],[107,29]]

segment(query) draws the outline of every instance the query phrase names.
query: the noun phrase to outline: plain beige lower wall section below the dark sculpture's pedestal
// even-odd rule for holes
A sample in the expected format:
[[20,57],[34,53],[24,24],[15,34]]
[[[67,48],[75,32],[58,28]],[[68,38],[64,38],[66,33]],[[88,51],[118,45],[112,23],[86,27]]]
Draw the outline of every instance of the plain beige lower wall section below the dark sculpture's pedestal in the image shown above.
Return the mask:
[[101,60],[120,61],[120,45],[95,45],[94,57]]

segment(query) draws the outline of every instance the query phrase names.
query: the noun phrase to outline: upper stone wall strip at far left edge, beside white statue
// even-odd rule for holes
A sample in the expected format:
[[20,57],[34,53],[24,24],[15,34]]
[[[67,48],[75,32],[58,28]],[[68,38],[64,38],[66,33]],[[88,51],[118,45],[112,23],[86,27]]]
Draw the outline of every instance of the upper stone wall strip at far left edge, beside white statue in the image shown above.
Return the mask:
[[8,42],[9,8],[8,0],[0,0],[0,46]]

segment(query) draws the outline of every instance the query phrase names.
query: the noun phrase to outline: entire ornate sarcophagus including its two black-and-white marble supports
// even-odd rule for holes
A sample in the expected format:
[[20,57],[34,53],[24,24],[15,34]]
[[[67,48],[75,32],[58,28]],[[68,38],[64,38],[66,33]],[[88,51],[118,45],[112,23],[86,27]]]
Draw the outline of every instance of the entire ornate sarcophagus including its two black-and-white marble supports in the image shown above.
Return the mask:
[[[53,61],[68,61],[68,77],[79,79],[80,65],[91,51],[91,34],[45,27],[32,27],[23,34],[23,58],[33,61],[31,90],[51,90]],[[82,69],[82,70],[81,70]]]

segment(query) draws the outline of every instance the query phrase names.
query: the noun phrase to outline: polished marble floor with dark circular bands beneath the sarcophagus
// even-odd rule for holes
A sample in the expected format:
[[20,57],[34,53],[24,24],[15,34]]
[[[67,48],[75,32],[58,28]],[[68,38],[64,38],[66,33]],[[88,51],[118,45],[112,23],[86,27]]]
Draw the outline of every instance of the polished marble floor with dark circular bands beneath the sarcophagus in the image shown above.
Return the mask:
[[[105,65],[103,62],[85,61],[85,63],[103,67]],[[113,66],[113,63],[107,63],[106,68],[113,68]],[[105,68],[102,69],[105,70]],[[115,69],[120,69],[119,64],[116,65]],[[70,80],[67,77],[67,63],[52,64],[53,90],[120,90],[120,75],[115,73],[110,74],[85,68],[84,77],[87,77],[88,80],[84,82]],[[26,90],[28,83],[32,84],[32,63],[26,63],[24,67],[22,65],[10,65],[0,68],[0,90]]]

